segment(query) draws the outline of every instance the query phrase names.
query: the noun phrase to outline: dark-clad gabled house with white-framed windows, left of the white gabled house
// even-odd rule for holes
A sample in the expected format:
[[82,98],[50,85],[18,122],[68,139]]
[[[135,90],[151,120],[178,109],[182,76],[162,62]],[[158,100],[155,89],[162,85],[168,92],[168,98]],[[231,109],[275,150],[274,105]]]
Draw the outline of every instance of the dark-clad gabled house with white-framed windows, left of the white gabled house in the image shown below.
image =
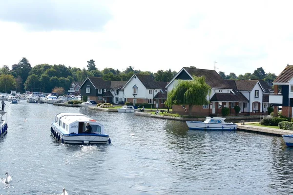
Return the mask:
[[87,100],[97,103],[112,103],[113,95],[110,92],[111,81],[103,80],[101,77],[88,77],[81,85],[81,96],[87,96]]

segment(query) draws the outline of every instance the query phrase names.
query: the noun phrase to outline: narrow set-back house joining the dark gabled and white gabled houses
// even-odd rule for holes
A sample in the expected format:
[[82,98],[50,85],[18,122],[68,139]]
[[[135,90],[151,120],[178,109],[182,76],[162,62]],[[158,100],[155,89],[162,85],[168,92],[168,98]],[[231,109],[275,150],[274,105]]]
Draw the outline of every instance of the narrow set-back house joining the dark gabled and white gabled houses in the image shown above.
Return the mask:
[[127,81],[111,81],[110,92],[113,95],[114,104],[124,104],[124,90],[123,86]]

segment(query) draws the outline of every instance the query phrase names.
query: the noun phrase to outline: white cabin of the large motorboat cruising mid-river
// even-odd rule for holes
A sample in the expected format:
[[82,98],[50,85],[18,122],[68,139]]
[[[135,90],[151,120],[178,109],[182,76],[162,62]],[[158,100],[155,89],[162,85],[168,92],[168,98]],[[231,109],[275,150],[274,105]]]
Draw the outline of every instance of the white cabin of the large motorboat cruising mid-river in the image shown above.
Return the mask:
[[92,127],[92,133],[104,134],[104,125],[79,113],[60,113],[56,115],[55,122],[66,134],[82,134],[87,122]]

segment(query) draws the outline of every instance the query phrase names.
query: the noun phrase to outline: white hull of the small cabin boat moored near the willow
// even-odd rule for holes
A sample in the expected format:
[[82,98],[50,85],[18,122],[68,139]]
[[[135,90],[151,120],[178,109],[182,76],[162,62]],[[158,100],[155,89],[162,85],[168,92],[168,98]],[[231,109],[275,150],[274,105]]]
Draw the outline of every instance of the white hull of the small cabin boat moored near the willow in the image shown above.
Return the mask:
[[188,128],[191,130],[225,130],[234,131],[237,129],[235,123],[204,123],[199,121],[186,121]]

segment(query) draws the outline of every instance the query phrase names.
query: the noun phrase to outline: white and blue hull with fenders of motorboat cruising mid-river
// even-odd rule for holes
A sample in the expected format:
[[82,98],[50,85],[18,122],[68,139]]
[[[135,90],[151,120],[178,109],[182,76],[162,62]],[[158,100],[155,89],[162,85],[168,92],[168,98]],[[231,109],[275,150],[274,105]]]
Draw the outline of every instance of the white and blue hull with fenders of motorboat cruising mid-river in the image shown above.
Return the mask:
[[52,136],[64,144],[105,144],[110,143],[109,135],[104,134],[63,134],[54,125],[51,127]]

